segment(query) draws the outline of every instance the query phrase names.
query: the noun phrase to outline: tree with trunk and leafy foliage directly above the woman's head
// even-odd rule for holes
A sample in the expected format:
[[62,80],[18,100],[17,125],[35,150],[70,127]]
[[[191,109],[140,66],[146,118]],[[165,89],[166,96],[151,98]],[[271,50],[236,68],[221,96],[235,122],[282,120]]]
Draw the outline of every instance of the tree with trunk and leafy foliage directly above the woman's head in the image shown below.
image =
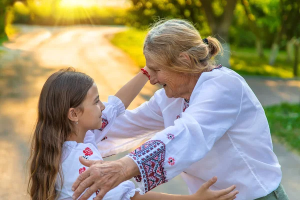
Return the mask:
[[[229,65],[230,46],[228,31],[237,0],[131,0],[129,23],[135,27],[147,27],[157,18],[184,18],[197,25],[201,35],[209,33],[223,44],[224,56],[219,62]],[[206,15],[207,20],[205,20]],[[210,29],[210,31],[209,31]]]

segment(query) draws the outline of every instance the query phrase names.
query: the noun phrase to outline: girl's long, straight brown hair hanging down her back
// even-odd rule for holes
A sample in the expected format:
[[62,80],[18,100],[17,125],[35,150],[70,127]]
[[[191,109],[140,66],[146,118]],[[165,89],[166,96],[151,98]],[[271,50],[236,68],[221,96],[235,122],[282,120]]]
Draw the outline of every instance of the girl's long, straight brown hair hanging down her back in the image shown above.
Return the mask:
[[70,107],[80,108],[92,84],[91,77],[69,67],[50,75],[43,85],[28,160],[28,193],[32,200],[56,198],[57,174],[63,181],[60,165],[62,145],[74,133],[74,122],[68,119],[68,110]]

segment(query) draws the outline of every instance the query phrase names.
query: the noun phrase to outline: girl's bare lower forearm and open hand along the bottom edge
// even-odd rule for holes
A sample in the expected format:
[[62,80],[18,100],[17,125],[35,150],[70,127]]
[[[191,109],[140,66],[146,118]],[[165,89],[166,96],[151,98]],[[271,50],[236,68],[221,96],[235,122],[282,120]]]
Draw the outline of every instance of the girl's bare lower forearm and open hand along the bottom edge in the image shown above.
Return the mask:
[[158,193],[154,191],[148,191],[147,193],[140,195],[138,192],[135,193],[131,200],[231,200],[236,198],[238,191],[233,191],[235,185],[232,185],[226,189],[211,190],[209,187],[216,182],[216,177],[211,178],[207,182],[201,185],[198,191],[191,195],[174,195],[166,193]]

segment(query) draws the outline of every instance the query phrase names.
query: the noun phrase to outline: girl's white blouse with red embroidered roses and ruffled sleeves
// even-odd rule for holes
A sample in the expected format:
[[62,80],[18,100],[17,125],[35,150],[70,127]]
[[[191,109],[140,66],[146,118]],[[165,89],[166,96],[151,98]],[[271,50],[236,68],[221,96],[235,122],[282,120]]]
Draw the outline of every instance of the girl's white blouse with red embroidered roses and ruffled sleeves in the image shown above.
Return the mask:
[[[63,144],[62,154],[62,175],[63,184],[61,185],[60,177],[57,175],[55,189],[59,193],[58,199],[72,199],[73,191],[71,186],[78,177],[78,175],[86,170],[88,167],[79,162],[78,157],[83,156],[86,159],[102,160],[100,152],[97,149],[96,139],[105,139],[107,130],[113,124],[115,118],[125,111],[124,104],[116,96],[109,96],[108,102],[104,102],[105,109],[102,112],[102,127],[98,130],[89,130],[86,132],[83,143],[76,141],[65,141]],[[140,191],[139,188],[135,189],[133,182],[127,180],[120,183],[115,188],[108,191],[103,200],[129,200],[135,194],[135,191]],[[88,199],[93,199],[98,191],[91,195]]]

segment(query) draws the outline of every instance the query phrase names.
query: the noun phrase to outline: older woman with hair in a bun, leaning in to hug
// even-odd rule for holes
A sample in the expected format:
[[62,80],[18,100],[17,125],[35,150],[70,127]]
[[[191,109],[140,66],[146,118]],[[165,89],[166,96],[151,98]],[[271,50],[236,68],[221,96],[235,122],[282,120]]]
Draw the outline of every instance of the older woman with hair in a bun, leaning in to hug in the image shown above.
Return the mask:
[[73,197],[89,187],[85,193],[100,189],[101,199],[133,176],[147,192],[181,174],[190,193],[216,175],[211,188],[236,184],[236,199],[288,199],[264,110],[240,75],[214,65],[221,50],[185,20],[156,23],[143,53],[150,83],[163,88],[119,117],[98,147],[107,156],[151,138],[115,161],[80,158],[90,168],[73,184]]

